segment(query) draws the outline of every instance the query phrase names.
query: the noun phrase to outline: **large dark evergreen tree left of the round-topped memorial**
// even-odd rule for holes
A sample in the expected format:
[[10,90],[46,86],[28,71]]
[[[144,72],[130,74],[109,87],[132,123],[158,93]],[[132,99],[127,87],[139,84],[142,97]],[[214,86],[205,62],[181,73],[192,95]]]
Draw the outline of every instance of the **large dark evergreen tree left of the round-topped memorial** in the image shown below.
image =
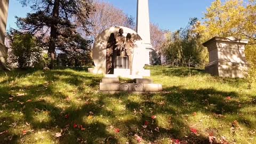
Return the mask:
[[21,4],[30,4],[33,13],[26,18],[17,18],[21,31],[29,32],[41,40],[47,47],[51,58],[49,68],[54,67],[56,51],[64,52],[69,57],[88,53],[91,41],[77,33],[77,27],[86,27],[93,11],[92,0],[20,0]]

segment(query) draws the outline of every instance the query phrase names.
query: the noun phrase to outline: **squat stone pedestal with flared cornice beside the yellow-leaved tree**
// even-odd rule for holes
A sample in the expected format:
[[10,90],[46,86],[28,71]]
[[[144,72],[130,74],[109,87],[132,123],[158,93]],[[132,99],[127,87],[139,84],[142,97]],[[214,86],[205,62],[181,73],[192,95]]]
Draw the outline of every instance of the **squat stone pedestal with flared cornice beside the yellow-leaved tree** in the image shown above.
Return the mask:
[[206,73],[220,77],[242,78],[248,63],[245,59],[245,45],[249,41],[234,37],[214,37],[203,45],[209,51]]

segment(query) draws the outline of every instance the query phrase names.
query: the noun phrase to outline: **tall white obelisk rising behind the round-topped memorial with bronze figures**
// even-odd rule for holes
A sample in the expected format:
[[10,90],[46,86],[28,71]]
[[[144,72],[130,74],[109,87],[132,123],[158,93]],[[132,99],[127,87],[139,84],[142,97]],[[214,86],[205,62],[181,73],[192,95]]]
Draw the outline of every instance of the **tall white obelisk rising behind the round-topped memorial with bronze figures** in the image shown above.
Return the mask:
[[148,0],[137,0],[137,33],[141,36],[143,45],[146,47],[146,65],[150,65],[150,52],[154,51],[150,39],[150,21]]

